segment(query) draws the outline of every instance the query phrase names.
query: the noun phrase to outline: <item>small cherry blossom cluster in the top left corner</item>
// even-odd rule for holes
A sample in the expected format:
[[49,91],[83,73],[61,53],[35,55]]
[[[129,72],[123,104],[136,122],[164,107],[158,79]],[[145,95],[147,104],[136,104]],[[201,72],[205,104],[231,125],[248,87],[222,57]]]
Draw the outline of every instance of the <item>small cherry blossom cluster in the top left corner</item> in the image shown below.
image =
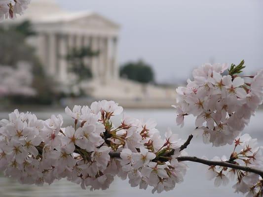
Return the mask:
[[31,0],[0,0],[0,21],[16,18],[16,14],[24,14]]

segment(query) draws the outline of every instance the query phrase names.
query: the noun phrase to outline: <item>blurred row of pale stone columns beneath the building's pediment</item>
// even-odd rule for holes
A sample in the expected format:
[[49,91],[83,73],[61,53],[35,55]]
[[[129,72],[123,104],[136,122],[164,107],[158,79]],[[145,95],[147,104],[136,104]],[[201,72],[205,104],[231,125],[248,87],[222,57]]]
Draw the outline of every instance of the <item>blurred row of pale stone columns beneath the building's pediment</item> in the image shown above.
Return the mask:
[[66,82],[69,74],[69,63],[65,56],[73,49],[90,46],[99,55],[86,59],[94,78],[108,80],[118,77],[117,37],[85,34],[40,33],[38,35],[38,53],[46,72]]

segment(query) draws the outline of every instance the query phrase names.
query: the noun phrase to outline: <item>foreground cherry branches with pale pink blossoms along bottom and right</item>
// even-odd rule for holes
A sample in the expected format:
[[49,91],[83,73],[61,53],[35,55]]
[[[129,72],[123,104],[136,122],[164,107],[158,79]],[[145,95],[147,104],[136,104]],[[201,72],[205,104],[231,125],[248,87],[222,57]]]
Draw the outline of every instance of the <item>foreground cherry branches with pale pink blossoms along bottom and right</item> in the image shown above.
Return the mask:
[[[193,71],[194,80],[188,80],[188,88],[177,89],[177,124],[183,125],[184,117],[193,115],[195,130],[204,143],[232,144],[229,158],[186,156],[193,135],[182,140],[168,130],[162,138],[152,120],[124,116],[115,125],[112,117],[120,115],[123,108],[114,101],[101,100],[90,108],[66,107],[66,114],[73,118],[72,126],[66,128],[61,115],[43,121],[18,110],[9,114],[9,120],[0,121],[5,142],[0,143],[4,156],[0,169],[25,184],[51,184],[67,177],[82,189],[105,190],[114,176],[119,176],[128,178],[132,187],[152,187],[152,193],[161,193],[183,181],[188,161],[207,165],[206,173],[216,187],[232,178],[235,192],[262,197],[263,147],[249,134],[240,133],[263,102],[263,69],[242,76],[243,68],[243,61],[232,64],[224,74],[224,65],[206,64]],[[20,130],[14,132],[17,127]],[[7,150],[13,151],[8,154]]]

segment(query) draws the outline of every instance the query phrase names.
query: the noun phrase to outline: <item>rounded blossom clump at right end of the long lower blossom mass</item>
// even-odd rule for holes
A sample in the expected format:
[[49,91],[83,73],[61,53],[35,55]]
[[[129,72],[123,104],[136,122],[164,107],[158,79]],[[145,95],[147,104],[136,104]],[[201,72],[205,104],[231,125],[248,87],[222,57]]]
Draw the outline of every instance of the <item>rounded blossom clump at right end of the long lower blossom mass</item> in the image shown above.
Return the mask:
[[[162,140],[158,132],[150,137],[144,130],[145,127],[143,130],[137,127],[141,135],[140,143],[144,144],[140,146],[140,152],[127,148],[121,151],[122,170],[128,172],[132,187],[140,185],[140,189],[146,189],[150,185],[153,187],[152,193],[172,190],[176,183],[184,180],[187,170],[187,165],[177,160],[177,157],[185,154],[180,150],[181,140],[171,131],[167,131]],[[171,151],[172,154],[169,154]]]

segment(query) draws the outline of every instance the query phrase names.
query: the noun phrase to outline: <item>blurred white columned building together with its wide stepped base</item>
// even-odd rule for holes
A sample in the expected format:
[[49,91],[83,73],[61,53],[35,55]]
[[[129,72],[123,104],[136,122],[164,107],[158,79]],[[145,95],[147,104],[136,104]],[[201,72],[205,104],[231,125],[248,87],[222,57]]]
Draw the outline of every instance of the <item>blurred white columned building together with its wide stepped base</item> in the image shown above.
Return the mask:
[[[175,88],[160,88],[150,84],[118,77],[117,42],[119,26],[94,12],[69,12],[55,0],[32,0],[23,16],[7,23],[28,19],[37,36],[29,42],[37,49],[38,56],[48,75],[60,82],[60,90],[72,90],[74,74],[63,58],[72,48],[91,46],[99,50],[98,57],[86,60],[93,78],[82,81],[81,89],[94,99],[113,99],[128,107],[170,107],[174,103]],[[70,90],[70,91],[71,91]],[[86,99],[71,103],[85,104]]]

